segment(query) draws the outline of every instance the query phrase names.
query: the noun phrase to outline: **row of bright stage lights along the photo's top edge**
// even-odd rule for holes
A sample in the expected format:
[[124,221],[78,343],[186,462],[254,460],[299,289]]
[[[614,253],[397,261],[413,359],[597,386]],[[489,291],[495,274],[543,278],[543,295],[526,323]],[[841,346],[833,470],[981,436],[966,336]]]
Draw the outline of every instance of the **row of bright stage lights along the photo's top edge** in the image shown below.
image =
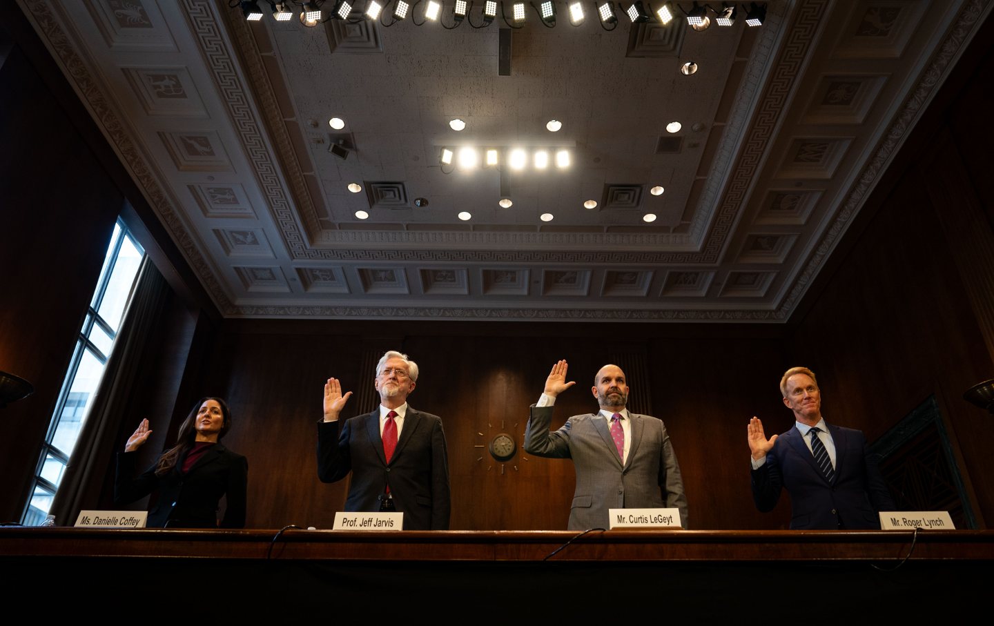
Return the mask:
[[[327,17],[323,14],[322,9],[326,3],[333,4]],[[393,19],[389,23],[384,22],[382,18],[388,14],[385,13],[385,9],[391,3],[394,4]],[[245,18],[249,22],[257,22],[262,19],[263,13],[259,8],[258,0],[232,0],[231,6],[234,8],[239,4],[242,7],[243,15],[245,15]],[[442,8],[441,0],[414,0],[413,3],[406,0],[383,0],[383,2],[380,0],[367,0],[366,10],[363,12],[362,17],[352,18],[350,16],[355,6],[355,0],[313,0],[311,2],[266,1],[266,4],[269,5],[270,13],[277,22],[286,22],[292,19],[293,11],[290,7],[296,5],[300,9],[300,23],[304,26],[317,26],[328,20],[341,20],[356,24],[368,18],[371,20],[380,20],[380,24],[389,27],[403,21],[409,15],[412,16],[411,21],[414,22],[415,26],[421,26],[426,21],[438,21]],[[424,4],[424,11],[421,21],[417,22],[414,20],[414,8],[419,4]],[[529,2],[528,4],[539,14],[543,25],[548,28],[556,26],[556,2],[544,0],[538,6],[534,2]],[[648,10],[645,8],[646,4],[648,4]],[[570,23],[574,26],[580,26],[586,19],[586,15],[583,12],[583,3],[580,0],[572,0],[567,2],[567,5],[570,12]],[[485,28],[490,26],[497,18],[498,6],[500,6],[500,15],[505,24],[515,29],[524,27],[526,19],[524,2],[511,3],[511,20],[508,21],[507,14],[504,11],[504,3],[496,2],[495,0],[485,0],[483,2],[482,20],[478,25],[473,24],[473,21],[469,17],[469,13],[473,8],[473,2],[455,0],[452,6],[452,26],[447,26],[444,22],[441,22],[441,25],[446,29],[453,29],[465,21],[473,28]],[[628,19],[633,24],[650,22],[653,19],[652,16],[655,16],[656,21],[664,26],[669,25],[676,17],[674,6],[678,7],[684,13],[687,18],[687,24],[695,30],[704,30],[711,25],[711,18],[708,16],[709,11],[715,15],[715,22],[719,26],[734,26],[739,17],[739,9],[734,2],[723,2],[721,9],[715,9],[710,4],[701,6],[699,3],[694,2],[694,6],[689,11],[675,2],[663,2],[656,10],[652,9],[651,4],[648,2],[643,4],[641,0],[635,0],[627,8],[624,8],[624,5],[620,3],[617,4],[617,7],[623,9],[623,13],[628,16]],[[593,7],[596,10],[597,16],[600,18],[600,26],[604,30],[614,30],[617,28],[618,18],[614,10],[614,2],[597,0],[593,2]],[[760,26],[766,17],[765,5],[759,6],[755,2],[751,2],[748,8],[743,5],[743,10],[746,14],[745,23],[749,26]],[[610,28],[607,28],[608,26]]]

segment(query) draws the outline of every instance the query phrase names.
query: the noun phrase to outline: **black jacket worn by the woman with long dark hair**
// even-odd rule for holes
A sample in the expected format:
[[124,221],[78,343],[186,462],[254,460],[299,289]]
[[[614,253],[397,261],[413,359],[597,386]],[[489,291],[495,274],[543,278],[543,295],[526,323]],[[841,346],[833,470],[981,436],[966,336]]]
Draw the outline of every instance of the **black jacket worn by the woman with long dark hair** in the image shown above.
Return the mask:
[[220,443],[210,447],[185,475],[183,458],[165,476],[155,475],[155,465],[134,478],[136,452],[117,453],[114,504],[144,498],[155,490],[159,499],[148,512],[148,528],[218,528],[218,503],[228,496],[221,527],[241,529],[246,525],[248,460]]

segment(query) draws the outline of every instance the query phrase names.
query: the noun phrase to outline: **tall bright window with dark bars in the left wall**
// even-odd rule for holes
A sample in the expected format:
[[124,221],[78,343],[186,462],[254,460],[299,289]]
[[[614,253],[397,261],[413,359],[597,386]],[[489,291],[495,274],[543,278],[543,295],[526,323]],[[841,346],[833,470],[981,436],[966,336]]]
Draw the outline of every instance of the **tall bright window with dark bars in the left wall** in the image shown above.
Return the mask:
[[24,511],[25,526],[38,526],[49,514],[113,349],[144,256],[145,251],[118,221],[42,445],[31,500]]

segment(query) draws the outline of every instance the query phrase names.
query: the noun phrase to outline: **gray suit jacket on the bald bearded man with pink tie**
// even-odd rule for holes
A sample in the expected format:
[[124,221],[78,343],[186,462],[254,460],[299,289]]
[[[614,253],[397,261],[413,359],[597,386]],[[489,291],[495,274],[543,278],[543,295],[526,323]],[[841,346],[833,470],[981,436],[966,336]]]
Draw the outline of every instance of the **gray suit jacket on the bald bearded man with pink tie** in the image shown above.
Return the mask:
[[525,450],[536,456],[572,458],[577,491],[570,512],[571,531],[608,528],[608,509],[675,507],[687,528],[687,498],[677,455],[662,420],[650,415],[631,417],[628,460],[621,465],[605,419],[574,415],[562,428],[549,431],[552,406],[532,404],[525,432]]

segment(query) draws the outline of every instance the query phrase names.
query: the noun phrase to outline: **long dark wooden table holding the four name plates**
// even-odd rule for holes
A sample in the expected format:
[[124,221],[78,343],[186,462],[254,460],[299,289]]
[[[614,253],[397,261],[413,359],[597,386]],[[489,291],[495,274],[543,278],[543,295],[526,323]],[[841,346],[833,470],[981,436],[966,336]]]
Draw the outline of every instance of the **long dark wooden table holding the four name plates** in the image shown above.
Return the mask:
[[[439,615],[489,622],[497,615],[532,621],[521,611],[533,600],[541,602],[528,609],[530,618],[609,617],[596,598],[616,584],[623,597],[659,603],[692,623],[757,623],[752,611],[772,606],[810,611],[812,592],[859,611],[860,621],[948,619],[984,606],[994,566],[994,531],[923,531],[907,560],[911,532],[609,531],[575,539],[562,531],[291,529],[273,543],[276,533],[3,528],[4,591],[43,601],[49,596],[37,582],[57,571],[57,579],[72,581],[67,593],[94,607],[103,598],[122,610],[130,602],[146,610],[147,594],[121,596],[106,581],[175,590],[197,579],[212,593],[185,601],[211,612],[225,597],[229,617],[285,606],[320,616],[332,594],[349,598],[337,615],[373,618],[369,607],[382,605],[389,588],[391,603],[441,593]],[[549,604],[552,598],[559,602]],[[766,608],[743,613],[756,602]],[[806,621],[839,620],[837,612],[816,612]]]

